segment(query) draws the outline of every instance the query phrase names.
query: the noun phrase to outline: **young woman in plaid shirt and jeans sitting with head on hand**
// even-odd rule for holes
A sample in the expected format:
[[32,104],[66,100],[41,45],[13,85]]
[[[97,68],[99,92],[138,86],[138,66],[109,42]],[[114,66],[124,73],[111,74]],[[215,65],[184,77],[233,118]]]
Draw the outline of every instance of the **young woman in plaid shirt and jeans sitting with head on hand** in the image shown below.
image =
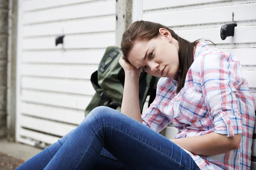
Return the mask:
[[[148,21],[129,26],[121,49],[121,113],[93,109],[75,130],[18,170],[250,169],[254,102],[236,57]],[[141,71],[162,77],[143,115]],[[179,131],[176,139],[159,134],[169,123]]]

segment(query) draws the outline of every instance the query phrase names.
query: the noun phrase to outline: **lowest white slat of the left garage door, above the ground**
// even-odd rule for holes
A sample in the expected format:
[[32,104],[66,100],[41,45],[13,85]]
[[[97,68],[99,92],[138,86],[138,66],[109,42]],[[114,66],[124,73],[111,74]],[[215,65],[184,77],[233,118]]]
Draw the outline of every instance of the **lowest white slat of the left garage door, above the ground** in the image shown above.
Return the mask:
[[55,136],[50,136],[44,133],[39,133],[23,128],[20,128],[20,136],[26,136],[27,138],[35,139],[36,141],[41,141],[47,144],[53,144],[54,142],[57,142],[58,139],[60,139]]

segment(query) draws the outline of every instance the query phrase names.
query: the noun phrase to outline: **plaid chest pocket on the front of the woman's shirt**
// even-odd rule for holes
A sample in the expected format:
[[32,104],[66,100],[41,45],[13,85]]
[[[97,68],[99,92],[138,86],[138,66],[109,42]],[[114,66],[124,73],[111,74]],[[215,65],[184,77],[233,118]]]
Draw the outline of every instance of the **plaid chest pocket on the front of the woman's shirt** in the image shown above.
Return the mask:
[[191,87],[181,93],[179,112],[187,124],[191,125],[209,114],[201,91]]

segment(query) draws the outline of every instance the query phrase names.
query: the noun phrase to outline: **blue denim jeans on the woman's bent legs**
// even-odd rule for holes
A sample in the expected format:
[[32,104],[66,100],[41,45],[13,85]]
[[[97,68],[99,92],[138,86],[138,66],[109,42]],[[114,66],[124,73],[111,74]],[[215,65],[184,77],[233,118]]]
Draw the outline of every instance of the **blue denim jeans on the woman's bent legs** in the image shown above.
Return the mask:
[[98,107],[73,131],[17,170],[199,170],[177,144],[108,107]]

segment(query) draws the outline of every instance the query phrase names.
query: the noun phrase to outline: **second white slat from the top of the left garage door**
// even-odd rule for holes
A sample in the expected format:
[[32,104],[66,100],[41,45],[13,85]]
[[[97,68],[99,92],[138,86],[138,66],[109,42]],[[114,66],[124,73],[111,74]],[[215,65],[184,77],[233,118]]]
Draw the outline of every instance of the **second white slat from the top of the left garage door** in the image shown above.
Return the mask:
[[41,23],[56,20],[72,20],[84,17],[114,15],[116,1],[95,1],[72,6],[61,6],[47,10],[26,12],[23,14],[23,23]]

